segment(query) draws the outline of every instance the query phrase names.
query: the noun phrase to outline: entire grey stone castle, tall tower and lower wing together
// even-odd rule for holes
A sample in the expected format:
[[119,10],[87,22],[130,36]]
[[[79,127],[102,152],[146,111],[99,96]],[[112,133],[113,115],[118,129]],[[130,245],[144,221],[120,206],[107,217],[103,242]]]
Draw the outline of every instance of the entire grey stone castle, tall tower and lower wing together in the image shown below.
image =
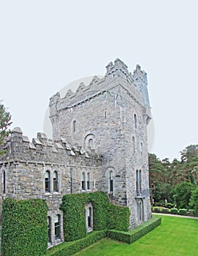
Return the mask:
[[[151,119],[147,75],[129,72],[120,59],[76,92],[50,98],[53,140],[39,132],[32,141],[16,127],[0,158],[0,206],[7,197],[42,198],[48,206],[48,246],[64,241],[63,195],[105,192],[129,206],[130,227],[151,218],[147,125]],[[85,206],[87,233],[93,208]]]

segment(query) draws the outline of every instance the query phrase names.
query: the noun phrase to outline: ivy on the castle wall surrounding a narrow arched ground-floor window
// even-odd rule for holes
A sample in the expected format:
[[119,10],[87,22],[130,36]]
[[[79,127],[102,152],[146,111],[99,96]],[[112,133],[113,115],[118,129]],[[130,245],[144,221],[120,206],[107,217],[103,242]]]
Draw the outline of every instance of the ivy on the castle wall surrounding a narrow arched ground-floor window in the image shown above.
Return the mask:
[[64,195],[64,239],[74,241],[86,236],[85,205],[92,203],[94,230],[129,230],[129,208],[115,206],[103,192]]

